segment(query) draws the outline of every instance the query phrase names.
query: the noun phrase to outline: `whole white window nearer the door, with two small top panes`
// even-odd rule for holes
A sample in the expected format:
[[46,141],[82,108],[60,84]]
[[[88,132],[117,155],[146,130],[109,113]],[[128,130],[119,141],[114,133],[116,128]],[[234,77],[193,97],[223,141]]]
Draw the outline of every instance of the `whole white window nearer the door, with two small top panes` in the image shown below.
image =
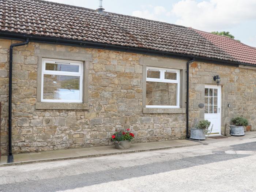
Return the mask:
[[147,67],[146,108],[180,108],[180,70]]

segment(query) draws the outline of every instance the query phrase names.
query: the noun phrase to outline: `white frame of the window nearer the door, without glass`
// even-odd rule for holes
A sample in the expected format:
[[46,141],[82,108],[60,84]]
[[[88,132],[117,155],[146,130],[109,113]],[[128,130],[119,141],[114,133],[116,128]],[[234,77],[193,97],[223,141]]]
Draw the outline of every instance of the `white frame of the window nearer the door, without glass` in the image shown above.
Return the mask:
[[[147,71],[159,70],[160,78],[147,78]],[[165,72],[174,72],[176,73],[176,80],[165,79]],[[177,84],[177,93],[176,93],[176,105],[146,105],[146,108],[180,108],[180,70],[179,69],[167,69],[167,68],[158,68],[158,67],[147,67],[146,68],[146,82],[163,82],[163,83],[176,83]],[[147,86],[147,84],[146,84]],[[146,87],[147,89],[147,87]]]

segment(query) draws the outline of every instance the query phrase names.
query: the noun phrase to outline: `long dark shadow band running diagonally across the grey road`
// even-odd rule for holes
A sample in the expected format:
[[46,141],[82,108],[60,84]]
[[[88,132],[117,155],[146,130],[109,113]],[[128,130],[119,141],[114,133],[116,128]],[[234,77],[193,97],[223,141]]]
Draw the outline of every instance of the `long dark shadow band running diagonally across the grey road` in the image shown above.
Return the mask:
[[[253,142],[255,143],[255,142]],[[244,144],[234,145],[234,148],[240,148]],[[251,148],[251,147],[250,147]],[[256,150],[256,147],[255,147]],[[149,163],[146,165],[132,166],[132,167],[118,167],[113,170],[99,171],[93,173],[84,173],[73,176],[64,176],[59,178],[51,178],[44,180],[33,180],[26,182],[18,182],[14,184],[0,185],[0,191],[5,192],[42,192],[42,191],[60,191],[85,187],[94,184],[101,184],[105,182],[124,180],[134,177],[147,176],[151,174],[169,172],[172,170],[179,170],[197,165],[206,165],[208,163],[227,161],[230,159],[237,159],[248,157],[244,154],[223,154],[215,153],[196,157],[189,157],[183,159],[175,159],[170,161],[163,161],[157,163]],[[29,188],[27,188],[29,186]]]

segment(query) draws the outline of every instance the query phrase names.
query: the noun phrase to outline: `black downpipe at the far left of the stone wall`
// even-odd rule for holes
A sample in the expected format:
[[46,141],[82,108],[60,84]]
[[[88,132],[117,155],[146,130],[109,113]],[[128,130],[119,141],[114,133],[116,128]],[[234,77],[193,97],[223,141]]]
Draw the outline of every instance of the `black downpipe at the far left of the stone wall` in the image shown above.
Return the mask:
[[9,117],[8,117],[8,157],[7,163],[13,162],[13,155],[12,155],[12,51],[14,47],[27,45],[29,44],[29,38],[26,39],[26,42],[12,44],[10,46],[10,56],[9,56]]

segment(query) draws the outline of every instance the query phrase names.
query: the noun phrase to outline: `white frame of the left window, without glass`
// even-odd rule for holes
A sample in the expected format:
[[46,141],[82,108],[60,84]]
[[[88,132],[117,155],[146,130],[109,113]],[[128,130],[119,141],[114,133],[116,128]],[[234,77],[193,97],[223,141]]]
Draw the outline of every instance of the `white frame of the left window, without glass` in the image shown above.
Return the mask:
[[[46,70],[46,63],[59,62],[61,64],[78,65],[78,72],[68,71],[50,71]],[[44,99],[44,75],[65,75],[65,76],[79,76],[79,100],[64,100],[64,99]],[[83,62],[72,61],[72,60],[60,60],[60,59],[42,59],[42,72],[41,72],[41,102],[52,102],[52,103],[82,103],[83,102]]]

